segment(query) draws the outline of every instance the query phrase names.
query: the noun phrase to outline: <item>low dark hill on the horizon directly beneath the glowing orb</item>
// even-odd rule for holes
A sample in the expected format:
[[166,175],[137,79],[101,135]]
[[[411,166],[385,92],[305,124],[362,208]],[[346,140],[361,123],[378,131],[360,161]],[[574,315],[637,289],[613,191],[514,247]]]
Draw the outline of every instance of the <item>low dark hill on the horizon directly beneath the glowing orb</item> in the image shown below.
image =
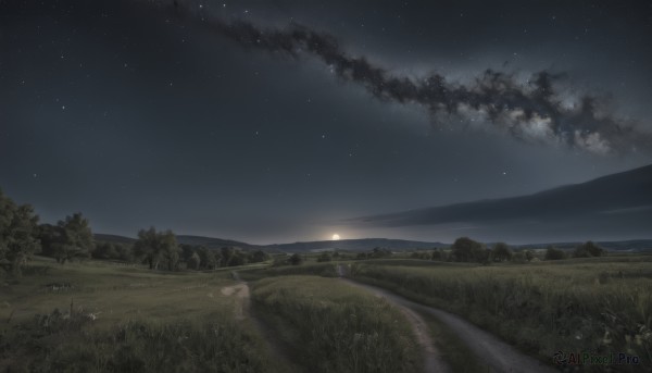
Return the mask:
[[441,243],[424,243],[424,241],[412,241],[404,239],[389,239],[389,238],[361,238],[361,239],[340,239],[340,240],[327,240],[327,241],[309,241],[309,243],[294,243],[294,244],[275,244],[268,245],[267,248],[275,251],[281,252],[304,252],[304,251],[319,251],[326,249],[340,249],[347,251],[367,251],[373,248],[380,247],[392,250],[408,250],[408,249],[432,249],[446,247],[447,245]]

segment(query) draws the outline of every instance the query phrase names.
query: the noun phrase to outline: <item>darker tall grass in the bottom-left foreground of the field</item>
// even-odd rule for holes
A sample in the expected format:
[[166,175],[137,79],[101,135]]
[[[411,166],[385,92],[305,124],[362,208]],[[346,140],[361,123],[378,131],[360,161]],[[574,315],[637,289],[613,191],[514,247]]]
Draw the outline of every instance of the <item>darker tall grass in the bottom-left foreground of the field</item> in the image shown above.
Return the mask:
[[54,311],[0,334],[8,372],[269,372],[262,341],[231,318],[130,321],[96,328]]

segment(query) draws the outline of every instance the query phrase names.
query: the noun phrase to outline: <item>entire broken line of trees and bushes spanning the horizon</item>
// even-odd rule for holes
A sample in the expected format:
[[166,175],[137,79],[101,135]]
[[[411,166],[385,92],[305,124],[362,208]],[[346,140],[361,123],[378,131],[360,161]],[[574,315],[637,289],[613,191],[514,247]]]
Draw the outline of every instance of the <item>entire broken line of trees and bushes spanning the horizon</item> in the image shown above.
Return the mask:
[[[269,259],[269,254],[262,250],[248,251],[237,247],[214,250],[199,245],[179,245],[172,231],[159,232],[154,227],[140,229],[138,239],[134,244],[96,241],[90,223],[82,213],[68,215],[57,225],[38,224],[38,215],[30,204],[18,206],[0,189],[0,274],[10,272],[20,275],[22,266],[34,253],[54,258],[61,264],[71,260],[95,258],[141,263],[152,270],[167,271],[215,270]],[[548,247],[541,259],[601,257],[605,253],[606,250],[603,248],[587,241],[577,246],[573,252]],[[377,247],[369,252],[359,253],[355,259],[388,258],[392,254],[391,250]],[[457,238],[449,250],[416,251],[412,256],[418,259],[485,264],[506,261],[526,262],[536,259],[532,250],[514,251],[504,243],[487,247],[468,237]],[[325,262],[333,259],[348,259],[346,256],[338,257],[338,252],[335,254],[323,252],[317,260]],[[302,261],[301,256],[294,254],[289,258],[278,258],[275,264],[297,265]]]

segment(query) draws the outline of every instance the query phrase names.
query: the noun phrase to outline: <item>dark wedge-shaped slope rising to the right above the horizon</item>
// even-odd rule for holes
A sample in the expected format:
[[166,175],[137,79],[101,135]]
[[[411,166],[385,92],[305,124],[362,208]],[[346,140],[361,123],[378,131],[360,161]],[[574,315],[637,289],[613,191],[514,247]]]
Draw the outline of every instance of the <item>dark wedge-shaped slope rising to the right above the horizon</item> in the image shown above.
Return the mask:
[[430,225],[454,222],[547,222],[613,216],[614,224],[649,216],[652,232],[652,165],[566,185],[528,196],[480,200],[351,219],[373,226]]

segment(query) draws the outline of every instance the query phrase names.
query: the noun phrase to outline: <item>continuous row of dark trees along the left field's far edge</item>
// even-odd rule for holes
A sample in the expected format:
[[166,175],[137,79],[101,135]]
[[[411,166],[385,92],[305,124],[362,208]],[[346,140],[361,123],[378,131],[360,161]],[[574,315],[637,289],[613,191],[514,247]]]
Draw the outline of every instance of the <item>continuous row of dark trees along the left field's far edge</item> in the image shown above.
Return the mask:
[[0,274],[21,275],[22,268],[38,253],[64,264],[89,258],[147,264],[149,269],[215,270],[221,266],[262,262],[269,256],[262,251],[243,251],[223,247],[179,245],[175,234],[140,229],[133,244],[96,241],[88,219],[74,213],[57,224],[39,224],[30,204],[16,204],[0,189]]

